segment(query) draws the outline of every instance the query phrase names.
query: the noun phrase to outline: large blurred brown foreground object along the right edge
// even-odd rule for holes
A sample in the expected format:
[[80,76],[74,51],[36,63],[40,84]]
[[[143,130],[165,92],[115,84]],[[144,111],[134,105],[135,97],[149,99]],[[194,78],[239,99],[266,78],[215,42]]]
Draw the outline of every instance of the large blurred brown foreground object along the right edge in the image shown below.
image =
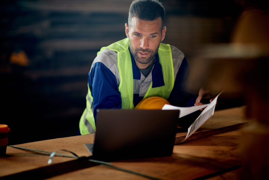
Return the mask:
[[269,179],[268,32],[267,11],[243,12],[232,43],[206,45],[199,49],[190,73],[189,87],[196,90],[200,87],[213,91],[224,88],[226,93],[243,94],[246,116],[256,120],[256,125],[242,136],[240,179]]

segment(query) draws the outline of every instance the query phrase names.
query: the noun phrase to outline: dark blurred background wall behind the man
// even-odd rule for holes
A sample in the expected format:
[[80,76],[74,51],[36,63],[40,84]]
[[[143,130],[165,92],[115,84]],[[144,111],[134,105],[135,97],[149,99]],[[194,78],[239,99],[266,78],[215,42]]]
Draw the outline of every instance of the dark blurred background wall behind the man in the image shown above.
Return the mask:
[[[239,1],[161,2],[164,43],[178,47],[189,62],[203,44],[230,42],[243,11]],[[1,1],[0,124],[10,127],[9,144],[77,134],[91,63],[102,46],[126,37],[130,3]],[[12,53],[22,52],[28,65],[10,61]],[[220,96],[216,109],[242,104],[240,97]]]

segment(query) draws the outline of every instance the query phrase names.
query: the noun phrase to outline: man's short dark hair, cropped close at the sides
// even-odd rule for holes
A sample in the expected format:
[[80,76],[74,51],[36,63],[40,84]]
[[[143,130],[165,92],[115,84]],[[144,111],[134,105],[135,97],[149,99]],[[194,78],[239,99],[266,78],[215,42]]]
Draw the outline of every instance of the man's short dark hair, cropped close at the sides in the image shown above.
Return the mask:
[[128,25],[131,20],[136,17],[141,20],[154,21],[161,17],[162,27],[164,27],[165,10],[161,2],[157,0],[135,0],[129,9]]

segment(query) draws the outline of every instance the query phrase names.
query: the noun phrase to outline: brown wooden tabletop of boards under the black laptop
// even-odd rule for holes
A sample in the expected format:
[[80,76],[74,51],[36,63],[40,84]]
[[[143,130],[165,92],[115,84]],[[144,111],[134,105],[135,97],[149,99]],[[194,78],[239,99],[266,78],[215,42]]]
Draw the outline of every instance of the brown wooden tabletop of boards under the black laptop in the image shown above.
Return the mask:
[[[212,131],[222,127],[235,127],[247,123],[244,118],[245,107],[216,111],[215,114],[197,131]],[[246,124],[245,124],[246,125]],[[249,124],[248,124],[249,125]],[[244,128],[228,128],[228,132],[214,132],[196,140],[176,144],[169,157],[131,159],[112,162],[116,167],[139,172],[159,179],[218,179],[227,177],[237,179],[241,162],[240,135]],[[231,131],[230,131],[231,130]],[[177,138],[187,132],[180,132]],[[193,134],[195,135],[195,134]],[[192,135],[192,136],[193,136]],[[93,143],[94,134],[57,138],[30,142],[17,146],[43,151],[69,150],[80,156],[90,153],[84,143]],[[98,165],[83,159],[54,157],[48,165],[49,156],[44,153],[7,147],[7,157],[0,158],[0,177],[34,179],[146,179],[142,176]],[[68,153],[66,153],[68,154]],[[72,155],[72,154],[68,154]]]

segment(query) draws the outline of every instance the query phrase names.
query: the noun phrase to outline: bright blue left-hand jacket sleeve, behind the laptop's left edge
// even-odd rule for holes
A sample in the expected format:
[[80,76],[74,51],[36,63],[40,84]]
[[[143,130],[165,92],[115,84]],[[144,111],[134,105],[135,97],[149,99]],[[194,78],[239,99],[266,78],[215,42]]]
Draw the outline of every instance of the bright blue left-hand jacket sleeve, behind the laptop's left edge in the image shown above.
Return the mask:
[[96,123],[97,109],[121,108],[121,93],[115,75],[101,62],[96,62],[88,74],[88,84],[93,96],[93,115]]

